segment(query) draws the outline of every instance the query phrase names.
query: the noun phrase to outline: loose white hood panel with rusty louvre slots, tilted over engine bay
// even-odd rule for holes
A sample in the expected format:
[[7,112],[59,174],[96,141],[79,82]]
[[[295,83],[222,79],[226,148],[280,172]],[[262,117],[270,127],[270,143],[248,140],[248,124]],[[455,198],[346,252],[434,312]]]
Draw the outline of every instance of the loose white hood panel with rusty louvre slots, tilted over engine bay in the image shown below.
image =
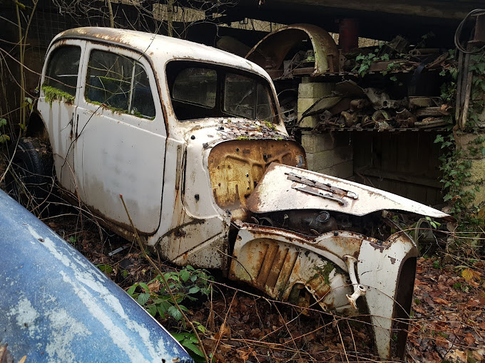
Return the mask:
[[271,164],[247,199],[253,213],[325,209],[354,216],[399,210],[452,220],[449,214],[387,191],[287,165]]

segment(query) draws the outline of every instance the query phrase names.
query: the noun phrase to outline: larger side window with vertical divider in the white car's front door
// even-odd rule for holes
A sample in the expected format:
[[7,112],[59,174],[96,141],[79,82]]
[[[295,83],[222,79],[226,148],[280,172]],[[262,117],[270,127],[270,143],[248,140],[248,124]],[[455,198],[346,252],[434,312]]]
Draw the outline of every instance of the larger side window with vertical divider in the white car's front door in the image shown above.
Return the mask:
[[86,100],[138,117],[155,117],[148,75],[141,63],[106,51],[92,51]]

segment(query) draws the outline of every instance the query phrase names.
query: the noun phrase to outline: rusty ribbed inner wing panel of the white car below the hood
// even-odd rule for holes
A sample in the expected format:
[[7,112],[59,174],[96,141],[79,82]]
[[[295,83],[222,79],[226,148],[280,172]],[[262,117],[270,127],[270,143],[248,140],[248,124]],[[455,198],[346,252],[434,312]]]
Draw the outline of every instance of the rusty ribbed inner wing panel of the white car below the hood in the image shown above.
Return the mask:
[[[330,236],[330,235],[329,235]],[[295,243],[298,242],[298,243]],[[305,248],[312,238],[277,228],[244,225],[238,236],[230,278],[246,281],[272,298],[306,305],[305,292],[324,310],[352,315],[351,285],[337,256],[323,259]],[[328,243],[328,241],[326,241]],[[315,248],[314,248],[315,249]],[[319,252],[319,249],[315,249]],[[320,252],[325,253],[325,250]],[[327,255],[329,256],[329,255]],[[310,295],[308,295],[310,296]]]

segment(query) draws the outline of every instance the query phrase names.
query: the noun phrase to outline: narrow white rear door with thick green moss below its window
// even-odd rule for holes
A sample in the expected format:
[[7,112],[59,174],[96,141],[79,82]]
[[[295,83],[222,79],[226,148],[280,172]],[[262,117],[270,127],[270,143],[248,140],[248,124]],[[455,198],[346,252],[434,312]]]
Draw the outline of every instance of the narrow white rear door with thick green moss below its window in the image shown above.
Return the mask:
[[76,192],[74,125],[83,65],[84,42],[65,40],[54,44],[46,57],[37,110],[46,123],[56,176],[64,189]]

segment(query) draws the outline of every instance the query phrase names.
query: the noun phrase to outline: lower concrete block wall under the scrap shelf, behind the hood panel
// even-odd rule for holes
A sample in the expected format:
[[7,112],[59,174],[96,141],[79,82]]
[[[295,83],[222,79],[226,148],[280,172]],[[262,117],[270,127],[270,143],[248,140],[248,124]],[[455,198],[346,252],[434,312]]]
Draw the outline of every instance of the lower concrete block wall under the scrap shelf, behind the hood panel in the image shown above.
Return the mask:
[[348,179],[354,174],[354,150],[350,133],[302,132],[302,147],[307,153],[308,169],[313,172]]

